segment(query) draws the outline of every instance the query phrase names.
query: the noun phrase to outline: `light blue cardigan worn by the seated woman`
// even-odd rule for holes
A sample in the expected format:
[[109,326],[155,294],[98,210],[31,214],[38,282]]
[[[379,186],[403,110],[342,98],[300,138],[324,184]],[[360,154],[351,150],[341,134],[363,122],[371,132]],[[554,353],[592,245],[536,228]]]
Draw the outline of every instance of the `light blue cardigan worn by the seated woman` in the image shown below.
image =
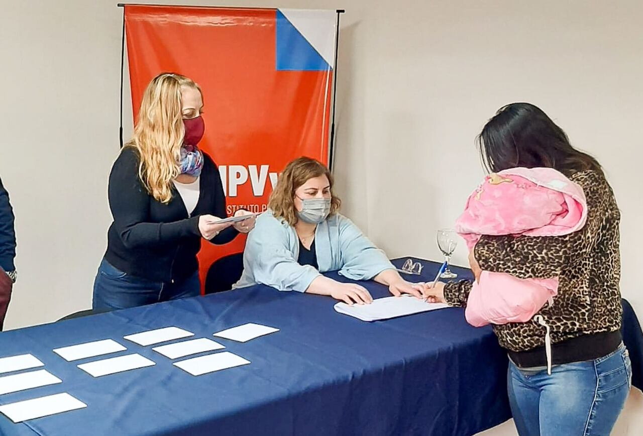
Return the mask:
[[261,283],[279,291],[303,292],[320,272],[340,271],[352,280],[370,280],[385,269],[395,268],[350,219],[338,213],[318,224],[315,253],[319,271],[298,264],[299,238],[293,226],[268,210],[257,217],[248,235],[243,275],[234,287]]

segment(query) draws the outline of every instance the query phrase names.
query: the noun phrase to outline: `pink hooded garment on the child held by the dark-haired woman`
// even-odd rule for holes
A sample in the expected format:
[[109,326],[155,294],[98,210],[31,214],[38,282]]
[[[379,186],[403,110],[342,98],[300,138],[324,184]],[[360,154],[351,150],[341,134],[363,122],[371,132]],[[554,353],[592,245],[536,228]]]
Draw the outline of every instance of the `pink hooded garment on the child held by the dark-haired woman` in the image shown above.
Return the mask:
[[[511,168],[487,176],[469,196],[455,230],[472,250],[482,235],[561,236],[587,219],[583,188],[553,168]],[[475,327],[527,322],[553,303],[558,278],[520,279],[482,271],[467,300],[465,316]]]

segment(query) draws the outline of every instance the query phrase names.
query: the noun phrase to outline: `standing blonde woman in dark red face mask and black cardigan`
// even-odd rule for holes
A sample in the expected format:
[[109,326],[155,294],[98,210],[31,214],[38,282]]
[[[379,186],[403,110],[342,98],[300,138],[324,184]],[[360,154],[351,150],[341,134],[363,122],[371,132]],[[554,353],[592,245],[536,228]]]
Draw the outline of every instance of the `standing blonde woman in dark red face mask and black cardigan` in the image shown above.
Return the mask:
[[114,221],[94,282],[95,311],[199,295],[201,238],[225,244],[253,228],[250,217],[218,223],[226,198],[217,166],[197,147],[202,114],[201,89],[187,77],[163,73],[145,89],[134,135],[109,176]]

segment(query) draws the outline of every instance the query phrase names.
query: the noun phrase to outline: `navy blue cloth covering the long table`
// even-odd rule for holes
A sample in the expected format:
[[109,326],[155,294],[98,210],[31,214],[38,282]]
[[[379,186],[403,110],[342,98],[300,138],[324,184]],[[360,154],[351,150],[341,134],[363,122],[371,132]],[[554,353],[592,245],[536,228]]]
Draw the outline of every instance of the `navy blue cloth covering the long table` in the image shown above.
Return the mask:
[[[21,424],[0,415],[0,434],[471,435],[509,419],[507,358],[491,329],[467,325],[462,309],[368,323],[336,313],[334,303],[255,286],[3,332],[0,357],[32,353],[63,383],[0,395],[0,403],[69,392],[87,408]],[[123,340],[170,325],[211,338],[246,322],[281,331],[219,340],[251,365],[198,377]],[[98,358],[72,363],[51,351],[105,338],[127,347],[107,357],[138,352],[156,366],[93,378],[76,365]]]

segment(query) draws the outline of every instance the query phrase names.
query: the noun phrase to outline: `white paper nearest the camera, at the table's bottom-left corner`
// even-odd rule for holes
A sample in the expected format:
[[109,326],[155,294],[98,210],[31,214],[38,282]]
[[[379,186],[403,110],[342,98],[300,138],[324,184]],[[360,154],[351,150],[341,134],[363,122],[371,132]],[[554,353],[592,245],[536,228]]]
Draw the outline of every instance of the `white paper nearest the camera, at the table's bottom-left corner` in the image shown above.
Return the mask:
[[41,418],[55,415],[56,413],[69,412],[87,407],[87,404],[78,401],[68,393],[48,395],[17,403],[0,406],[0,413],[6,415],[14,422],[23,422],[28,419]]

